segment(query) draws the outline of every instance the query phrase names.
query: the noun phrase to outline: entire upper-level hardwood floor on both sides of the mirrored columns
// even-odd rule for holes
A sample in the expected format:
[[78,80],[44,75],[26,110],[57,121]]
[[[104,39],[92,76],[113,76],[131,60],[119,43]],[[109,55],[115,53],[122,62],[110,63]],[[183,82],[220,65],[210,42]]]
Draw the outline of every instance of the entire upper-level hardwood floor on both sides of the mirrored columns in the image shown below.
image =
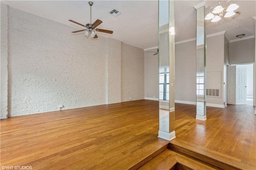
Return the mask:
[[[208,152],[234,166],[256,168],[254,107],[176,103],[171,144]],[[1,166],[38,169],[136,169],[167,148],[158,138],[158,101],[139,100],[2,119]],[[170,152],[166,152],[167,155]]]

